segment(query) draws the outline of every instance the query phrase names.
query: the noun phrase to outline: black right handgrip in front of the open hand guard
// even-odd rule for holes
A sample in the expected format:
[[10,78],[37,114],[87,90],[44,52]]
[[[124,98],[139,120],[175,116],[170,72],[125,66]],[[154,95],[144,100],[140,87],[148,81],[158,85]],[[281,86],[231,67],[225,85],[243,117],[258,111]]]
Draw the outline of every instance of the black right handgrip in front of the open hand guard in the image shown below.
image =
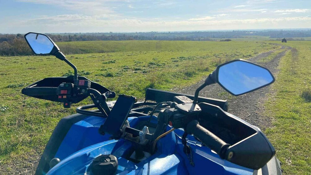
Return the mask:
[[197,120],[188,123],[186,131],[197,137],[203,144],[214,150],[221,159],[225,159],[226,150],[230,146],[219,137],[202,127]]

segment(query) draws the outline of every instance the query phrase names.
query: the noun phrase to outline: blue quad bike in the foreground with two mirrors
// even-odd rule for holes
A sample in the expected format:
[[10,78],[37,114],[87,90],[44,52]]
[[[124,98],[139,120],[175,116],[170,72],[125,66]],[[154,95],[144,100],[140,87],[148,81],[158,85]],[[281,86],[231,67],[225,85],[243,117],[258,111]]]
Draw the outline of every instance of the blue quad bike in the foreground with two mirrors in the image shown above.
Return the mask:
[[60,120],[36,174],[281,174],[275,149],[258,127],[227,113],[227,101],[198,96],[213,83],[233,95],[257,90],[274,82],[268,69],[233,60],[218,66],[194,96],[147,89],[144,102],[124,94],[106,101],[116,94],[77,76],[48,36],[28,33],[25,39],[35,54],[54,55],[74,75],[45,78],[22,94],[65,108],[87,97],[94,103]]

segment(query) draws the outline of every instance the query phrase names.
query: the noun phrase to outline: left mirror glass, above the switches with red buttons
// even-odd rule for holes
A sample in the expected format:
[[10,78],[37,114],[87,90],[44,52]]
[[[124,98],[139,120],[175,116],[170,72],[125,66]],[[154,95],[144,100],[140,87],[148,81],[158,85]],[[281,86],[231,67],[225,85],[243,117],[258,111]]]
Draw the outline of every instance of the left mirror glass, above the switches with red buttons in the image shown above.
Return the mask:
[[26,40],[36,54],[49,54],[54,47],[53,42],[45,35],[30,33],[26,35]]

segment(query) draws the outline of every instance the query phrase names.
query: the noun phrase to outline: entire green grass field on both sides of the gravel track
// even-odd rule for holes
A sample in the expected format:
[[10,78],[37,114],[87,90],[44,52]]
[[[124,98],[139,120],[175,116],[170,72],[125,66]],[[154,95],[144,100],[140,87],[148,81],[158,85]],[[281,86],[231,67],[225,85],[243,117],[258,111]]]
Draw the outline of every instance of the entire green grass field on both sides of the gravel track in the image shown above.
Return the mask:
[[[175,87],[201,80],[222,62],[248,59],[280,48],[269,43],[86,41],[57,44],[61,50],[73,45],[81,47],[78,53],[88,53],[67,55],[82,76],[117,94],[143,99],[149,87],[174,91]],[[311,106],[301,97],[303,90],[311,86],[311,42],[293,41],[285,45],[296,48],[296,51],[294,49],[281,58],[281,71],[273,85],[275,94],[270,95],[266,104],[275,127],[264,132],[276,147],[285,173],[300,174],[311,172]],[[272,56],[262,61],[269,59]],[[1,164],[41,154],[58,121],[75,113],[75,107],[91,103],[84,100],[64,109],[62,104],[21,94],[21,89],[32,82],[71,73],[71,67],[53,56],[0,57],[0,167]]]

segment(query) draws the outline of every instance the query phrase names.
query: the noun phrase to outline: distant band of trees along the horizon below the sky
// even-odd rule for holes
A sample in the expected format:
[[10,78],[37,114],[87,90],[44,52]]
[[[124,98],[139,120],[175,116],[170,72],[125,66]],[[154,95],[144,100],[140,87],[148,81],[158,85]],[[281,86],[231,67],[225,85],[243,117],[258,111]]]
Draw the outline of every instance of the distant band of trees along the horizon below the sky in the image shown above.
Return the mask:
[[[132,32],[132,33],[63,33],[47,34],[54,42],[69,41],[121,41],[121,40],[192,40],[216,41],[260,35],[270,38],[310,37],[311,30],[232,30],[232,31],[185,31],[185,32]],[[214,39],[215,38],[215,39]],[[219,40],[219,39],[218,39]],[[0,55],[33,54],[22,34],[0,34]]]

